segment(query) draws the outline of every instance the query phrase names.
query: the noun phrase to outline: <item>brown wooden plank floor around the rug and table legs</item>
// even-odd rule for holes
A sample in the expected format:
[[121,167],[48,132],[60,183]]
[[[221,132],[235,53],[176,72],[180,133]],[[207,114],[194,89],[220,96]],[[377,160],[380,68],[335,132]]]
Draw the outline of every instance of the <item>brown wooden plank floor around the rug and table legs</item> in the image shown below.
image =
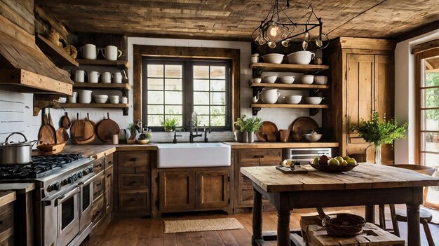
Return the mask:
[[[398,209],[398,206],[397,206]],[[300,214],[309,214],[316,210],[295,210],[291,213],[290,228],[299,228]],[[363,207],[335,207],[325,209],[325,212],[344,211],[364,216]],[[376,212],[378,214],[378,212]],[[439,216],[435,214],[433,216]],[[203,231],[191,233],[163,233],[163,221],[173,219],[212,219],[234,217],[245,227],[241,230],[231,231]],[[389,220],[389,211],[386,210],[386,224],[391,228]],[[376,220],[378,221],[378,219]],[[276,231],[277,214],[276,212],[264,212],[263,230]],[[407,238],[407,227],[405,223],[399,223],[400,231],[403,238]],[[436,245],[439,245],[439,225],[430,224],[431,233],[435,238]],[[107,226],[101,226],[97,229],[88,242],[83,242],[81,246],[105,245],[105,246],[226,246],[226,245],[251,245],[252,238],[252,214],[216,214],[216,213],[198,213],[198,214],[173,214],[172,216],[161,219],[140,219],[124,218],[114,219]],[[424,230],[421,226],[421,245],[427,245]],[[267,245],[276,245],[276,242],[269,242]]]

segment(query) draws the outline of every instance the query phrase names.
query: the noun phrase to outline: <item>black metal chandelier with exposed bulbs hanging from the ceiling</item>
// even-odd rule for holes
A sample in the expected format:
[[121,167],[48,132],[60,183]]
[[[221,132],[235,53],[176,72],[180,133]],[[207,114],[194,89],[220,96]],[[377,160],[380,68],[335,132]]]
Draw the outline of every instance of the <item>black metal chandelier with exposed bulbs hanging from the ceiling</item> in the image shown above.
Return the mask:
[[[270,48],[275,48],[278,43],[288,47],[293,39],[303,35],[302,48],[304,50],[308,48],[310,42],[315,42],[319,49],[326,48],[329,42],[326,42],[326,45],[323,46],[323,41],[329,41],[329,39],[327,34],[322,32],[322,18],[317,17],[313,11],[313,6],[311,4],[308,6],[308,10],[311,10],[311,13],[309,13],[306,23],[293,22],[285,13],[288,7],[290,7],[289,0],[287,0],[285,8],[279,6],[278,0],[272,1],[266,18],[253,31],[252,40],[261,46],[267,44]],[[287,21],[281,22],[281,17]],[[303,27],[303,29],[299,29],[300,27]],[[310,31],[315,28],[318,28],[318,35],[313,37]]]

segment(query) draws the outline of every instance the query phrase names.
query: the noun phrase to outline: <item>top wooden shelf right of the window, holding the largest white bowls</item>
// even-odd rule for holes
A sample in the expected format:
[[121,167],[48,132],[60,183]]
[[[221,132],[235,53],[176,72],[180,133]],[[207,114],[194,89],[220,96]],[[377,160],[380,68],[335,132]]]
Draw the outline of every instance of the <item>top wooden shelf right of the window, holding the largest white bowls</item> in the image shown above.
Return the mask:
[[297,72],[316,72],[329,69],[328,65],[301,65],[301,64],[274,64],[257,62],[250,64],[250,69],[262,69],[263,71],[297,71]]

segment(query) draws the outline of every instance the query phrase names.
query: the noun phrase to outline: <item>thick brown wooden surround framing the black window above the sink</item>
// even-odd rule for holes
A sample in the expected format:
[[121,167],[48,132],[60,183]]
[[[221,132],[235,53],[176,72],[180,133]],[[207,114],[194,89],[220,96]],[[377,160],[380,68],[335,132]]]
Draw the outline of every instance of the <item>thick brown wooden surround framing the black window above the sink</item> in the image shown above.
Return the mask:
[[142,119],[142,60],[143,57],[170,57],[181,59],[200,60],[228,60],[230,62],[230,88],[229,93],[231,114],[229,124],[233,129],[233,122],[241,114],[240,81],[241,81],[241,52],[231,48],[200,48],[177,46],[133,46],[133,122]]

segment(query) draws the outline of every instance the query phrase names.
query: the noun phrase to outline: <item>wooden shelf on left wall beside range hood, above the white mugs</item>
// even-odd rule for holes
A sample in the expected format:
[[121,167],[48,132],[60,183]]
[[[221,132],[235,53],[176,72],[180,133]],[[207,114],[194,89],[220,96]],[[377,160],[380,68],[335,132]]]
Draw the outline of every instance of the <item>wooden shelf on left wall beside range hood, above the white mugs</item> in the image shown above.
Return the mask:
[[41,34],[37,33],[35,35],[35,43],[58,67],[79,66],[79,63],[70,57],[64,49],[55,45],[55,43],[50,42],[45,37],[41,36]]

